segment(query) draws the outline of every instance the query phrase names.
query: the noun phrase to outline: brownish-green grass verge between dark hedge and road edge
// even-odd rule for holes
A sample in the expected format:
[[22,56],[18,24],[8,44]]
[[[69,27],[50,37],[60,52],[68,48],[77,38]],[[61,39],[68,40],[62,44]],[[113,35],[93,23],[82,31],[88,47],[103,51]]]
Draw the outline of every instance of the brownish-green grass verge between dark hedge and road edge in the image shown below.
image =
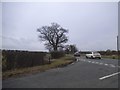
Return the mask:
[[52,59],[51,64],[28,67],[28,68],[23,68],[23,69],[15,69],[15,70],[3,72],[2,77],[3,77],[3,79],[6,79],[9,77],[18,77],[20,75],[44,72],[44,71],[52,69],[52,68],[66,66],[74,61],[75,61],[75,58],[73,55],[66,55],[65,57],[62,57],[59,59]]

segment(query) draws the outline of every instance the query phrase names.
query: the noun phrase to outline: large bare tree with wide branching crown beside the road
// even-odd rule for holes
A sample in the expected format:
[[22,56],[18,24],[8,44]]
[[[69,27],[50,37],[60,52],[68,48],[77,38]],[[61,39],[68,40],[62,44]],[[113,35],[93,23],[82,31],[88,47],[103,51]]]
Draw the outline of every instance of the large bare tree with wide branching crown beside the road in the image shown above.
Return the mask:
[[51,26],[42,26],[37,31],[40,33],[40,40],[45,42],[46,48],[50,51],[58,51],[58,47],[63,47],[63,44],[68,41],[66,36],[68,30],[57,23],[51,23]]

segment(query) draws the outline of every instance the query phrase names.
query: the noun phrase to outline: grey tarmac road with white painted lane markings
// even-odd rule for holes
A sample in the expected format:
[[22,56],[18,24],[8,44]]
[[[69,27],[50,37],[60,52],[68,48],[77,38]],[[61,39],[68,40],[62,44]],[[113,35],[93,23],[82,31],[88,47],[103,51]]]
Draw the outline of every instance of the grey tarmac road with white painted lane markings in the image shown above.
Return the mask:
[[78,58],[63,68],[3,80],[3,88],[118,88],[118,60]]

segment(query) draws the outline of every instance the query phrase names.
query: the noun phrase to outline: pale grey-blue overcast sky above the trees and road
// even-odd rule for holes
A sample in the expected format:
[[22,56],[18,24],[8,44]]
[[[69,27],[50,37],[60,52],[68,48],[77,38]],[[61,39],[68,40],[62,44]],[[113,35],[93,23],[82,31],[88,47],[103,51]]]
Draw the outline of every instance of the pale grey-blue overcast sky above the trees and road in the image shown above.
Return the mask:
[[118,3],[2,3],[2,48],[46,51],[37,28],[60,24],[79,50],[116,50]]

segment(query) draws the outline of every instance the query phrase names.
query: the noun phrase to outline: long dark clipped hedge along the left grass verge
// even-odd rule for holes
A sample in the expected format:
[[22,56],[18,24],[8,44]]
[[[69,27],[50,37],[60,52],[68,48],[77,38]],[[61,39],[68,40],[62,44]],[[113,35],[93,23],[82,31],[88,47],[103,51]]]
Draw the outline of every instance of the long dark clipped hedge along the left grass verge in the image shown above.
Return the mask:
[[46,52],[2,50],[2,71],[46,64],[45,56]]

